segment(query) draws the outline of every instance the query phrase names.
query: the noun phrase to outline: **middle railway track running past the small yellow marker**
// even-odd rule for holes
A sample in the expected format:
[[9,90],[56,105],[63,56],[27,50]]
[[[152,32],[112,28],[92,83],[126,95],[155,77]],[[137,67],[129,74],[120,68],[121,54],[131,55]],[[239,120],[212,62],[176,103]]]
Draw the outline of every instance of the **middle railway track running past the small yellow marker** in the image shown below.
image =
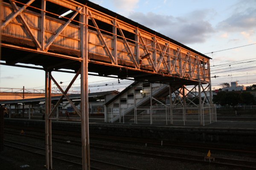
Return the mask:
[[[44,139],[44,136],[40,136],[40,135],[38,136],[26,135],[26,136],[32,137],[32,138],[35,137],[39,139]],[[52,141],[62,142],[67,144],[67,139],[61,139],[61,138],[55,139],[53,137]],[[81,141],[70,140],[68,144],[75,144],[75,145],[81,146]],[[190,161],[190,162],[198,162],[201,164],[206,164],[206,163],[209,163],[210,161],[209,159],[205,159],[205,156],[201,156],[201,155],[191,155],[191,154],[183,154],[183,153],[163,152],[163,151],[157,151],[157,150],[138,149],[138,148],[131,148],[131,147],[112,146],[112,145],[99,144],[99,143],[93,143],[93,142],[90,142],[90,147],[97,150],[108,150],[111,152],[126,153],[129,155],[137,155],[137,156],[144,156],[144,157],[157,158],[157,159]],[[227,166],[227,167],[240,167],[242,169],[256,169],[256,162],[241,160],[241,159],[228,159],[228,158],[215,157],[214,161],[211,161],[211,164],[215,164],[217,166],[221,165],[221,166]]]

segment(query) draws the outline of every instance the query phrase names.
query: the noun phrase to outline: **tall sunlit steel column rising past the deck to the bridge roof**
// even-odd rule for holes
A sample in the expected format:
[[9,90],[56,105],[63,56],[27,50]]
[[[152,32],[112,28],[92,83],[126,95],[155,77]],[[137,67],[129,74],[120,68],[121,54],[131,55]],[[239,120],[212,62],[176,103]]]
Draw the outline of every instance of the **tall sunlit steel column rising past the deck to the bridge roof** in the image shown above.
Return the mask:
[[88,8],[83,7],[81,14],[81,135],[82,169],[90,170],[89,110],[88,110]]

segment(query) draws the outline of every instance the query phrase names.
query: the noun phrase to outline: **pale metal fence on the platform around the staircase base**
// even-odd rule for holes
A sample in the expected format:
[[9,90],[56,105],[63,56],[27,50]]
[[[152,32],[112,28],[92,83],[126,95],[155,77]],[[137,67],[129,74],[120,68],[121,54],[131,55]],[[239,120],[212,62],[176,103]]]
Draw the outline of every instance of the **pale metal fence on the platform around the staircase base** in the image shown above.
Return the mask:
[[215,105],[204,105],[202,114],[198,107],[176,106],[170,111],[169,105],[136,107],[133,109],[120,108],[115,112],[107,109],[107,122],[154,125],[208,125],[217,122]]

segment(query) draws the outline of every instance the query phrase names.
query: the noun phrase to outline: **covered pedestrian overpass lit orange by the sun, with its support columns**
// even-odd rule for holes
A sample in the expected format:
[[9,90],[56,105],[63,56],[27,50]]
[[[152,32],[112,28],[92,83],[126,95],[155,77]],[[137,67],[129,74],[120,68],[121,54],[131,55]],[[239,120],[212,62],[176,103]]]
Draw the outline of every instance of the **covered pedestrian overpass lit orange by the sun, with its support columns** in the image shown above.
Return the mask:
[[[45,71],[47,169],[52,169],[52,113],[64,97],[81,117],[83,169],[90,169],[88,71],[104,77],[162,83],[166,89],[169,86],[169,94],[180,87],[197,87],[199,122],[204,125],[205,100],[212,104],[211,97],[201,98],[201,91],[206,88],[211,93],[210,58],[206,55],[87,0],[0,2],[1,64]],[[64,90],[52,77],[52,71],[75,76]],[[67,96],[79,74],[81,110]],[[54,108],[51,108],[52,81],[63,94]],[[182,95],[183,102],[179,104],[185,103],[185,94]],[[151,93],[150,106],[156,101],[154,97]],[[172,115],[172,103],[169,108]]]

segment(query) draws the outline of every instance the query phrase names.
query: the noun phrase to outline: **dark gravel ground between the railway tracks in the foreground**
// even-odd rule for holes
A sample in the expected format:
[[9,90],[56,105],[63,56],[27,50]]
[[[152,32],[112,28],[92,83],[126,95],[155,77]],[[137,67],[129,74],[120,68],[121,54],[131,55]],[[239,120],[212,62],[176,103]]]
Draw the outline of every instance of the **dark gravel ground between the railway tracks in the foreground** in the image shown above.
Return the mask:
[[[44,140],[42,139],[32,139],[25,136],[16,136],[5,134],[5,139],[12,140],[16,142],[26,143],[35,145],[38,147],[44,147]],[[79,139],[76,139],[79,140]],[[90,142],[96,143],[105,143],[114,146],[126,146],[134,147],[140,149],[154,149],[154,150],[163,150],[165,152],[178,152],[178,153],[191,153],[195,155],[206,156],[206,152],[197,151],[197,150],[186,150],[186,149],[175,149],[175,148],[166,148],[166,147],[145,147],[141,144],[123,144],[119,142],[109,142],[101,140],[90,140]],[[62,144],[53,142],[53,150],[58,150],[65,153],[75,154],[81,156],[81,147],[70,144]],[[217,155],[217,153],[212,153],[215,157],[223,156],[223,154]],[[244,159],[238,155],[232,155],[234,159]],[[165,159],[155,159],[148,158],[143,156],[134,156],[127,153],[120,152],[111,152],[106,150],[99,149],[90,149],[91,159],[97,159],[102,161],[108,161],[115,164],[123,164],[128,167],[136,167],[141,170],[241,170],[240,168],[227,168],[227,167],[215,167],[213,164],[198,164],[198,163],[189,163],[181,161],[171,161]],[[230,157],[230,155],[227,155]],[[255,158],[254,158],[255,159]],[[254,160],[255,161],[255,160]],[[29,165],[29,167],[20,167],[21,165]],[[10,147],[4,147],[4,150],[0,153],[0,165],[1,170],[45,170],[45,157],[38,156],[33,153],[27,153],[22,150],[15,150]],[[53,169],[54,170],[79,170],[81,166],[71,165],[56,159],[53,159]]]

